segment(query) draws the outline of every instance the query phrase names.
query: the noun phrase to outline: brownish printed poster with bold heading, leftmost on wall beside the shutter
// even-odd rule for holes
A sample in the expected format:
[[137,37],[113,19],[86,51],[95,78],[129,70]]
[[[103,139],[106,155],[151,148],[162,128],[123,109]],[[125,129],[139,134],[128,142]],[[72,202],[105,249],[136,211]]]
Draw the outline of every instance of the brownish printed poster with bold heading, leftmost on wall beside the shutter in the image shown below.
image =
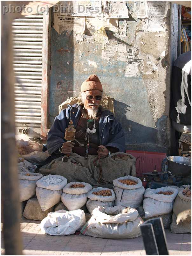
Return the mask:
[[54,13],[53,23],[53,28],[58,34],[61,34],[64,30],[73,30],[77,33],[83,33],[85,31],[85,18]]

